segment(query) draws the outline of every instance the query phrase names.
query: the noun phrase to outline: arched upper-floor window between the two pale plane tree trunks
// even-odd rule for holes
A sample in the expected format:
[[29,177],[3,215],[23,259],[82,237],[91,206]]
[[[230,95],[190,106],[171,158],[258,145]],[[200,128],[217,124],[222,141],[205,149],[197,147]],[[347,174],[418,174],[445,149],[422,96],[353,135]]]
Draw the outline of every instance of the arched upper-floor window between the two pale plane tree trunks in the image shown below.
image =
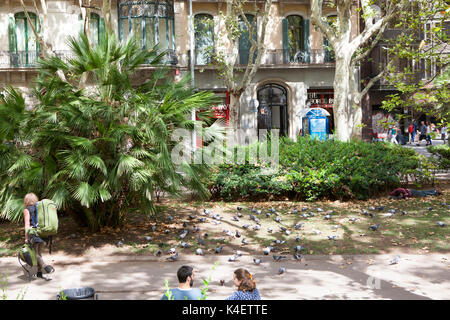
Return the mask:
[[309,20],[291,15],[282,21],[284,63],[309,62]]

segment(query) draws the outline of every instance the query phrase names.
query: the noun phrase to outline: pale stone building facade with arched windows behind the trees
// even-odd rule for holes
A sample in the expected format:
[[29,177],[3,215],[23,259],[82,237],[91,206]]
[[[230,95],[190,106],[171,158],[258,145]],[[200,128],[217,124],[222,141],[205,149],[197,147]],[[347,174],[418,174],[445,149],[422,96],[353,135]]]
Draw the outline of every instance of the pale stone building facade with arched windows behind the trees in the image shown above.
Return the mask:
[[[51,46],[56,54],[68,56],[66,40],[69,36],[76,37],[82,30],[83,7],[79,0],[46,0],[46,3]],[[333,131],[333,53],[311,23],[309,3],[308,0],[277,0],[272,4],[261,66],[240,99],[239,121],[248,135],[256,135],[258,128],[264,126],[280,129],[282,135],[295,138],[302,129],[302,112],[308,107],[325,108],[331,115],[330,132]],[[0,3],[0,87],[19,87],[27,93],[26,99],[31,99],[28,89],[37,74],[36,59],[40,51],[33,28],[40,30],[43,26],[32,1],[27,0],[25,4],[33,25],[26,18],[20,0]],[[159,44],[161,50],[167,50],[164,62],[174,79],[190,72],[190,50],[193,49],[194,85],[223,97],[223,105],[216,106],[216,115],[219,121],[226,121],[229,116],[227,89],[217,69],[209,64],[210,58],[204,54],[209,46],[225,52],[233,50],[221,37],[224,21],[220,12],[225,10],[226,2],[192,0],[195,30],[203,30],[195,33],[193,48],[189,41],[189,5],[188,0],[113,0],[113,29],[120,40],[134,35],[143,49]],[[253,2],[248,5],[250,20],[254,5]],[[257,5],[263,6],[264,2]],[[99,34],[105,32],[101,7],[101,0],[90,1],[92,41],[98,41]],[[331,9],[324,12],[330,19],[336,15]],[[353,26],[355,36],[358,33],[356,14]],[[247,64],[249,43],[248,37],[239,39],[236,67]],[[136,78],[144,78],[147,72],[152,72],[152,67],[141,66]]]

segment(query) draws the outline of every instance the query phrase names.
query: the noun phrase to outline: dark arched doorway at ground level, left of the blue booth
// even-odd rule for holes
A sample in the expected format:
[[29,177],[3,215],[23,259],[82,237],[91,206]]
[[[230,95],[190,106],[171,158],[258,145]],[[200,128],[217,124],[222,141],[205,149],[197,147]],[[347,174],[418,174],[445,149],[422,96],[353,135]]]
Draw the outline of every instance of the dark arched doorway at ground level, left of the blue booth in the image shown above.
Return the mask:
[[288,135],[287,90],[278,84],[266,84],[258,89],[258,130],[279,129]]

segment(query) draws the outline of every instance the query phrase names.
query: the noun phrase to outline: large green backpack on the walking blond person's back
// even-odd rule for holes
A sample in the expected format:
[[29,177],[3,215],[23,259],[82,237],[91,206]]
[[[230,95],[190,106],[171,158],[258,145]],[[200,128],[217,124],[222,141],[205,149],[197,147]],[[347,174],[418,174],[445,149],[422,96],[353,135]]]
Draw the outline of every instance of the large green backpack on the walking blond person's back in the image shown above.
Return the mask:
[[56,203],[43,199],[35,204],[35,214],[31,217],[31,224],[38,237],[47,238],[58,232],[58,212]]

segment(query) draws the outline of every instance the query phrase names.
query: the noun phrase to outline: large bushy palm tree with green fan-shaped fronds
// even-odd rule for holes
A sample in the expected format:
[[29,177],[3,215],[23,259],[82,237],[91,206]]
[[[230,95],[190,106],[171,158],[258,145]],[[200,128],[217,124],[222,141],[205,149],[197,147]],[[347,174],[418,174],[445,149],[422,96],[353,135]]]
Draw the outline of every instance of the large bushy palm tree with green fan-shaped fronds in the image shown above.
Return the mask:
[[[194,92],[187,78],[173,82],[160,66],[164,53],[157,54],[157,47],[143,51],[134,39],[122,44],[106,34],[91,48],[80,34],[69,45],[71,59],[39,62],[38,104],[25,111],[20,130],[28,143],[17,147],[8,174],[0,176],[5,192],[0,207],[7,208],[2,215],[20,219],[17,204],[26,192],[35,192],[98,230],[119,225],[132,210],[155,214],[155,191],[178,194],[187,188],[207,196],[202,179],[209,167],[186,161],[175,165],[171,152],[177,142],[171,137],[177,128],[194,127],[193,109],[207,119],[202,110],[218,102],[214,94]],[[155,66],[155,72],[132,84],[144,63]],[[56,75],[58,70],[67,81]]]

